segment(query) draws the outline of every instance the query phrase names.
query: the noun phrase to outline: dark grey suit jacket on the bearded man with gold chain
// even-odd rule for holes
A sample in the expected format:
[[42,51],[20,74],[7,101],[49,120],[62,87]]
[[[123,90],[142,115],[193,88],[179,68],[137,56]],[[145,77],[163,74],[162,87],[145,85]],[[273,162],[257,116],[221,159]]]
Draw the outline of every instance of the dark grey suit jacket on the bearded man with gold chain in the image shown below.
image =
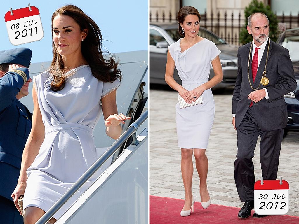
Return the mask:
[[[269,79],[269,84],[267,86],[261,84],[258,89],[266,88],[269,99],[263,98],[259,102],[254,103],[255,119],[262,131],[272,131],[286,127],[287,107],[283,95],[294,91],[297,86],[289,50],[270,40],[264,50],[254,84],[252,81],[250,60],[249,79],[253,88],[258,87],[263,71],[265,70],[268,45],[269,55],[266,77]],[[240,46],[238,49],[238,73],[232,104],[232,112],[236,114],[236,128],[239,127],[248,110],[251,102],[251,100],[248,99],[248,94],[253,91],[248,80],[248,56],[250,46],[251,42]],[[252,52],[254,52],[254,50],[251,49],[251,56]]]

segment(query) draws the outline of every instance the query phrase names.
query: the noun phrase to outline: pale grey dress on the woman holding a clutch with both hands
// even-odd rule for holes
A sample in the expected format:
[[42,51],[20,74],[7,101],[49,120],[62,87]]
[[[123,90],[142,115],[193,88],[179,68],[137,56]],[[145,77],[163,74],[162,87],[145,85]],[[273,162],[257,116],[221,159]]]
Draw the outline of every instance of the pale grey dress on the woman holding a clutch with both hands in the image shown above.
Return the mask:
[[[191,91],[209,81],[211,61],[221,51],[208,39],[202,39],[181,52],[181,39],[170,45],[169,53],[173,58],[182,86]],[[187,108],[176,104],[176,130],[179,148],[206,149],[212,130],[215,104],[211,89],[202,94],[203,103]]]

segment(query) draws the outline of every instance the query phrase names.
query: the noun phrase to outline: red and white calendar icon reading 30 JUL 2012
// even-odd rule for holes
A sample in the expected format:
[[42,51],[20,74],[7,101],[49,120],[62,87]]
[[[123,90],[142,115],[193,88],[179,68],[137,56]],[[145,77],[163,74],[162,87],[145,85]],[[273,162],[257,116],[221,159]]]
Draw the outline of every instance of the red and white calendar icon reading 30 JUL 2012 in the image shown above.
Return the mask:
[[258,215],[284,215],[289,211],[289,183],[258,180],[254,184],[254,211]]

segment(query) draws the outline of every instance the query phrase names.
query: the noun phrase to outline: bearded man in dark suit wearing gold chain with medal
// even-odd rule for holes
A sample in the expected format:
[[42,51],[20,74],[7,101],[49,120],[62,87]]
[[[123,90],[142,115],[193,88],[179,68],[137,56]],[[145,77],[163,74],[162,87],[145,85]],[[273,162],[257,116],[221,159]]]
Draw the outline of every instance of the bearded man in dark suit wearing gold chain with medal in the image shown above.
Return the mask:
[[[237,130],[235,182],[242,202],[239,218],[247,218],[254,207],[252,158],[260,141],[263,179],[276,179],[287,107],[283,95],[295,90],[294,69],[288,49],[271,41],[269,20],[263,13],[248,17],[253,42],[238,49],[238,73],[233,94],[233,125]],[[263,217],[254,213],[253,217]]]

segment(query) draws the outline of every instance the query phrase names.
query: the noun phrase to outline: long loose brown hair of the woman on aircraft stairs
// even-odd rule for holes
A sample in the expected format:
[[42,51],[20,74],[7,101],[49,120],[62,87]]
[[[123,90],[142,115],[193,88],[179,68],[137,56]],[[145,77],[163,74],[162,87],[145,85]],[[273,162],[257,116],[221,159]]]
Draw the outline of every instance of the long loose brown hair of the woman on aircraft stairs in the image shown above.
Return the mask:
[[[113,55],[108,51],[102,51],[102,34],[97,24],[87,16],[80,8],[74,5],[65,5],[57,9],[52,15],[52,36],[53,36],[53,20],[56,16],[70,16],[80,26],[81,32],[88,32],[86,39],[81,42],[81,52],[88,62],[92,75],[103,82],[112,82],[116,79],[121,81],[121,71],[117,69],[118,63],[115,62]],[[62,56],[57,52],[54,41],[52,42],[53,59],[50,66],[50,72],[53,74],[51,83],[54,91],[59,91],[64,87],[64,73],[67,71]],[[107,57],[103,57],[103,53],[108,53]]]

